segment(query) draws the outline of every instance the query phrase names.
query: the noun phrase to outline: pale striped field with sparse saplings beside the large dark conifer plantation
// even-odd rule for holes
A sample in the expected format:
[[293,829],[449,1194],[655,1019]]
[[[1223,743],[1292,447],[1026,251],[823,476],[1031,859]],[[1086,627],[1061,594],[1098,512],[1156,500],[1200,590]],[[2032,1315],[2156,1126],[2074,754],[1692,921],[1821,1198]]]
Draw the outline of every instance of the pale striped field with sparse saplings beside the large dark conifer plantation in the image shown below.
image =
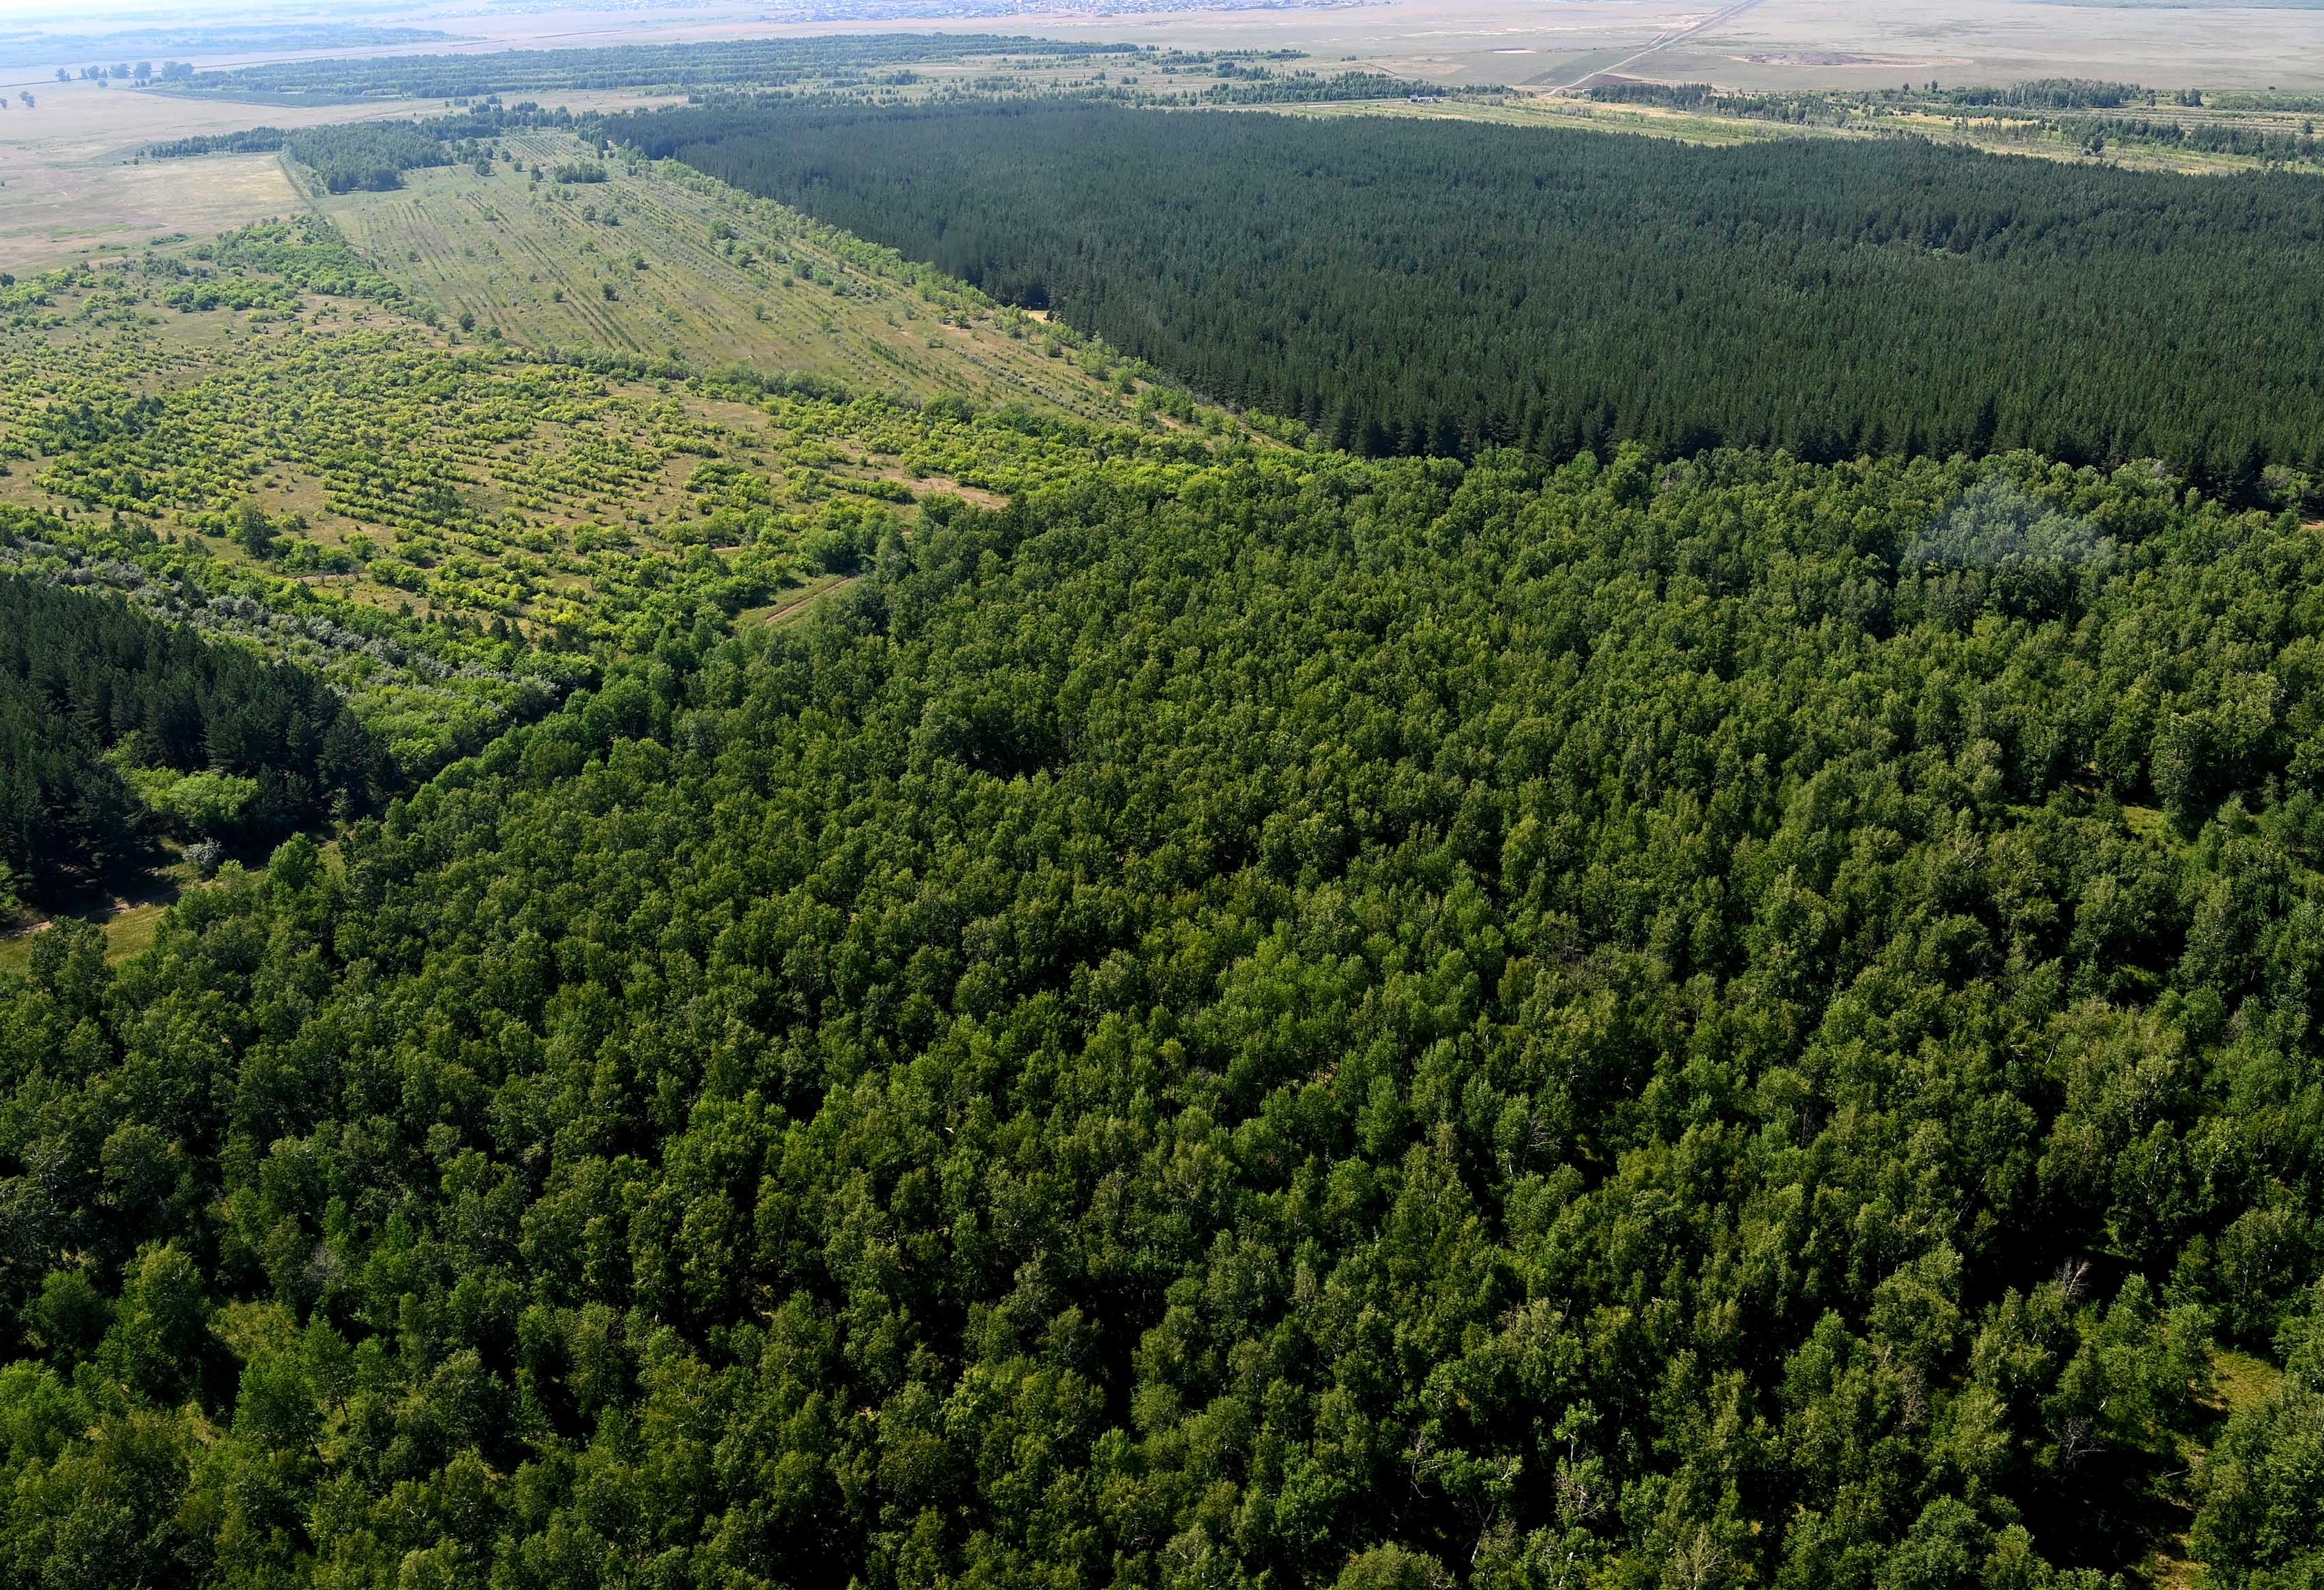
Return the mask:
[[[1129,411],[1027,316],[795,212],[686,167],[607,160],[569,132],[516,135],[502,151],[323,209],[444,321],[530,346],[804,370],[1083,418]],[[558,181],[576,170],[600,179]]]

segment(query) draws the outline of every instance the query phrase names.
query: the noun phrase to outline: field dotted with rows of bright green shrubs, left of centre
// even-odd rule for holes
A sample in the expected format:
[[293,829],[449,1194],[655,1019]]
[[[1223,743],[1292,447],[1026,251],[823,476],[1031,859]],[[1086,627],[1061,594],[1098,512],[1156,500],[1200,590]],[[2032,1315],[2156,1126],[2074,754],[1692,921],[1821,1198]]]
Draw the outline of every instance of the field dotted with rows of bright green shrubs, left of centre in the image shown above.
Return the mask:
[[1071,332],[1048,386],[1111,425],[553,363],[409,307],[325,223],[19,284],[5,556],[318,667],[423,769],[674,614],[723,623],[851,572],[930,497],[997,504],[1234,430],[1181,393],[1132,402]]

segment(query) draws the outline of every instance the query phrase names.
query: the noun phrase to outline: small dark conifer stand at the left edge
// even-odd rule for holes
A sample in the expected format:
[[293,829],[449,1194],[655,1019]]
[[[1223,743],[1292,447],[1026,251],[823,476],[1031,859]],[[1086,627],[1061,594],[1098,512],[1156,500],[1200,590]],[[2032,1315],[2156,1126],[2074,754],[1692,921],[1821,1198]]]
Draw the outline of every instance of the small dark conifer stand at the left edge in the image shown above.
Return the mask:
[[158,832],[270,841],[390,783],[321,679],[137,611],[0,572],[0,886],[53,900]]

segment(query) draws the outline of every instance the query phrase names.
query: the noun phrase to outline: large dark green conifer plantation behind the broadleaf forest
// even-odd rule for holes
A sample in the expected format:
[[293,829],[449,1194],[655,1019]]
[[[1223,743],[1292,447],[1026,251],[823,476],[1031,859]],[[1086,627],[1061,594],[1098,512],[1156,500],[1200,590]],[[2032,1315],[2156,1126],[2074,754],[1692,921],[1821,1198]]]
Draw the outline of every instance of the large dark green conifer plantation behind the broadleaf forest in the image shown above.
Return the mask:
[[2296,177],[1057,102],[609,126],[1369,453],[2031,446],[2238,500],[2324,474]]

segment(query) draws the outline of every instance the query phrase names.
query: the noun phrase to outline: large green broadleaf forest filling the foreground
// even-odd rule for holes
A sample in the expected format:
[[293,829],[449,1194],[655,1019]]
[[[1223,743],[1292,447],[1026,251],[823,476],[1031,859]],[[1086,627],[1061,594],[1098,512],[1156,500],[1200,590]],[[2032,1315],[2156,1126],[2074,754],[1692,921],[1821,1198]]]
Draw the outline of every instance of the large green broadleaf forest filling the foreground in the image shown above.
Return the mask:
[[[21,1583],[2324,1569],[2324,537],[1104,465],[0,983]],[[2305,1578],[2303,1578],[2305,1576]]]

